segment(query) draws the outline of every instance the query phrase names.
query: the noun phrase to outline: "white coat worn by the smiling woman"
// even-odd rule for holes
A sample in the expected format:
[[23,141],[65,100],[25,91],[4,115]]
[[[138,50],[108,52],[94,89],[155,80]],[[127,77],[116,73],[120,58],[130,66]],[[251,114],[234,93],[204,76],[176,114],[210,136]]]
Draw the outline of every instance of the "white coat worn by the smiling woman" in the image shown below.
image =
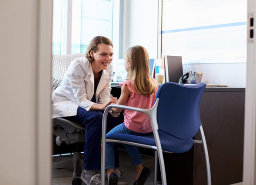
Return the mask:
[[[110,99],[112,64],[102,70],[102,76],[96,90],[96,100],[105,104]],[[85,57],[73,60],[61,82],[61,85],[52,93],[53,116],[67,117],[77,115],[77,108],[82,107],[89,111],[94,102],[90,101],[94,95],[94,74],[92,65]],[[117,117],[119,113],[110,113]]]

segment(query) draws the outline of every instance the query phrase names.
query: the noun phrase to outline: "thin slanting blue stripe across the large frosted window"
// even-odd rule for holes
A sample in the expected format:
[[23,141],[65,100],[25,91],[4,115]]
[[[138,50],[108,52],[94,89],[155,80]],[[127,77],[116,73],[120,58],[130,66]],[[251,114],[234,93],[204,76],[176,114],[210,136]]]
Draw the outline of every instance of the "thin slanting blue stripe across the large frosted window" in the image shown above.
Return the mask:
[[222,24],[222,25],[211,25],[211,26],[184,28],[184,29],[173,29],[173,30],[162,31],[162,34],[163,33],[181,32],[181,31],[193,31],[193,30],[200,30],[200,29],[212,29],[212,28],[222,28],[222,27],[231,27],[231,26],[241,26],[241,25],[247,25],[247,22],[228,23],[228,24]]

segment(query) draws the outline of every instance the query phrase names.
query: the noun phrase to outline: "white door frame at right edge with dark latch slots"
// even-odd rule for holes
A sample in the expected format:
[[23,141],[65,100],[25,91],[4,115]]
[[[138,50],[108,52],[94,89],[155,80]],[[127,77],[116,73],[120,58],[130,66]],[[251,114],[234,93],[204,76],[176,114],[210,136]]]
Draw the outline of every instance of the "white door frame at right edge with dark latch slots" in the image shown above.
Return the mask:
[[[256,0],[248,0],[248,43],[246,66],[246,96],[245,96],[245,121],[244,121],[244,169],[243,184],[256,185],[256,47],[255,40],[250,39],[250,16],[255,16]],[[254,17],[254,25],[255,25]],[[254,31],[255,33],[255,31]],[[254,36],[255,37],[255,36]]]

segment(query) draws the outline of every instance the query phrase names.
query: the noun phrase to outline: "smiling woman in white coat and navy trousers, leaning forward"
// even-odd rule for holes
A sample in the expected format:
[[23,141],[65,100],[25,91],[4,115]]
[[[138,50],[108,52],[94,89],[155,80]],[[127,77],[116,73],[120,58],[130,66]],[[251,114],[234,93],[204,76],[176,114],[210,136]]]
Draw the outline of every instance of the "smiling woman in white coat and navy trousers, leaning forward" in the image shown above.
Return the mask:
[[[96,170],[100,170],[101,162],[103,111],[111,103],[117,103],[117,98],[110,98],[112,59],[112,42],[106,37],[94,37],[87,47],[86,56],[71,62],[61,85],[52,94],[53,118],[65,117],[85,126],[85,166],[81,179],[92,185],[99,180]],[[120,124],[118,115],[114,112],[108,114],[108,130]],[[119,167],[116,153],[115,167]],[[127,181],[119,184],[125,185]]]

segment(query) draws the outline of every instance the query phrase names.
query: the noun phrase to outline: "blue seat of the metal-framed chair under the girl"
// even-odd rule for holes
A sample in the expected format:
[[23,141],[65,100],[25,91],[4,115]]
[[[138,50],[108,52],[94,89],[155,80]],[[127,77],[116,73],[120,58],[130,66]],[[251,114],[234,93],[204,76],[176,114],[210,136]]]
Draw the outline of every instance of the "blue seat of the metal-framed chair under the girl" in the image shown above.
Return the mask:
[[[158,134],[161,141],[162,150],[164,151],[183,153],[190,150],[190,148],[192,148],[194,144],[194,140],[192,138],[188,140],[181,140],[160,130],[158,130]],[[148,136],[135,136],[129,134],[112,133],[107,134],[106,138],[111,140],[122,140],[127,142],[156,146],[156,141],[153,134]]]

